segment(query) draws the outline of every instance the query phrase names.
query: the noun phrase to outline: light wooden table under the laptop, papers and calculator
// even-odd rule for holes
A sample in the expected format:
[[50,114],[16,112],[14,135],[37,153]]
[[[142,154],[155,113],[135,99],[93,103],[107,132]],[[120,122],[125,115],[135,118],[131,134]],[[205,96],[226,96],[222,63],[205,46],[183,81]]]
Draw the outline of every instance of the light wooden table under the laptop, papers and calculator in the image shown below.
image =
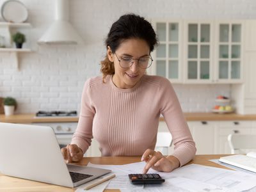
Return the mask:
[[[218,168],[225,168],[220,164],[207,161],[209,159],[218,159],[227,155],[197,155],[190,163],[203,164]],[[127,164],[140,162],[141,157],[86,157],[79,165],[86,165],[89,161],[95,164]],[[40,173],[39,173],[40,174]],[[0,191],[75,191],[75,189],[54,186],[42,182],[35,182],[26,179],[8,177],[0,173]],[[105,189],[104,191],[119,191],[115,189]]]

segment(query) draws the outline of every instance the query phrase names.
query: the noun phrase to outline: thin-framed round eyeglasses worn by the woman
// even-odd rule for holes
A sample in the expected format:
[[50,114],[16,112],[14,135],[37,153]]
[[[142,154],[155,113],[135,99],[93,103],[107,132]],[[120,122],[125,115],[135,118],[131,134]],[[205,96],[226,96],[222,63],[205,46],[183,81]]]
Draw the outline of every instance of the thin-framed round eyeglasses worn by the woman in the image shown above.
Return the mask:
[[[115,53],[115,55],[116,55],[116,53]],[[119,59],[118,56],[116,55],[116,58],[119,61],[120,67],[122,67],[122,68],[131,67],[135,60],[138,60],[139,67],[148,68],[148,67],[150,67],[150,65],[152,64],[152,61],[153,61],[151,56],[150,57],[145,56],[145,57],[141,57],[141,58],[138,58],[138,59],[134,59],[132,57],[125,56],[125,57],[122,57],[122,58]]]

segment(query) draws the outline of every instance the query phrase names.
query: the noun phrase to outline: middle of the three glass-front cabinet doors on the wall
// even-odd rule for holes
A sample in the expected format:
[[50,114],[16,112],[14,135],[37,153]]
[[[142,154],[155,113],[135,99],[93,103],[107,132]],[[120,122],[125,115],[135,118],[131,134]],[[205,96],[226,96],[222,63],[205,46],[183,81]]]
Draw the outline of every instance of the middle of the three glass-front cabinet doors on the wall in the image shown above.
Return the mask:
[[212,81],[212,23],[186,22],[185,81],[210,83]]

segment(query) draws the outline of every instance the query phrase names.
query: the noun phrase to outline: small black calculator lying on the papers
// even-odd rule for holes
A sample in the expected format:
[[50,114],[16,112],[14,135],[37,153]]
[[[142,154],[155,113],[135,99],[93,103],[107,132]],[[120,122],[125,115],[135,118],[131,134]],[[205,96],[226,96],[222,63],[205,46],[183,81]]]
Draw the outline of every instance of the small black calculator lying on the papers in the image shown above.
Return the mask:
[[129,179],[132,184],[159,184],[164,182],[164,179],[157,173],[129,174]]

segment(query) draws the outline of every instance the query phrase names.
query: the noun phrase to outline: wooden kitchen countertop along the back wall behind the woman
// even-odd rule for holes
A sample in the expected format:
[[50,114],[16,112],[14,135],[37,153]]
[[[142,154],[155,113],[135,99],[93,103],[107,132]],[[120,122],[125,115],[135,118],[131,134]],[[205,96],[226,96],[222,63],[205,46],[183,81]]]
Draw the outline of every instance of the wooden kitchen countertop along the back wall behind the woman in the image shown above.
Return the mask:
[[[0,115],[0,122],[31,124],[38,122],[78,122],[78,116],[74,117],[43,117],[34,118],[35,114],[17,114],[12,116]],[[187,121],[225,121],[225,120],[256,120],[255,115],[239,115],[236,113],[217,114],[217,113],[184,113]],[[164,118],[159,118],[164,121]]]

